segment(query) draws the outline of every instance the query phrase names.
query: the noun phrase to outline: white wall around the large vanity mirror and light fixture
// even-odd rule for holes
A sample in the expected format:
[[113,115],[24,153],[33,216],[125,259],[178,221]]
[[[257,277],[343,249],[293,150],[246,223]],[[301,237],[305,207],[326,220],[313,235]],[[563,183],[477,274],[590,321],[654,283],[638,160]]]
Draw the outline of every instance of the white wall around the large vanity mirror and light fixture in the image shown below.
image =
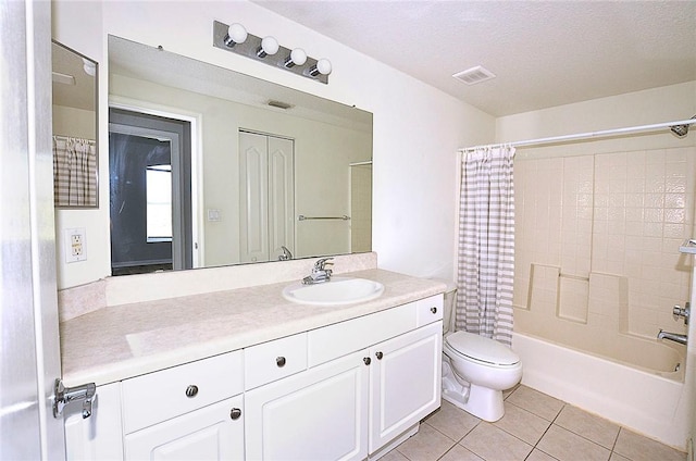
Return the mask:
[[[328,85],[278,71],[212,46],[212,22],[239,22],[257,36],[331,59]],[[301,25],[247,2],[53,2],[53,38],[100,65],[100,162],[107,157],[107,34],[311,92],[374,114],[373,249],[380,266],[411,275],[452,277],[456,150],[490,142],[494,117]],[[101,207],[59,212],[57,229],[86,226],[88,260],[59,261],[59,287],[109,275],[108,175]]]

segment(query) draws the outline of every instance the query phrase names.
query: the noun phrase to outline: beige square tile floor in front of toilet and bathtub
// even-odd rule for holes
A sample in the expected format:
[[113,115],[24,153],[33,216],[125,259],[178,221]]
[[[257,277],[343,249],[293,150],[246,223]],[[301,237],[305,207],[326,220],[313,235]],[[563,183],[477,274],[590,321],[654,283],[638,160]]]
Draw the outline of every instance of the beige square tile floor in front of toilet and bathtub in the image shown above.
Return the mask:
[[684,461],[686,453],[526,386],[506,394],[505,416],[482,421],[443,400],[384,461]]

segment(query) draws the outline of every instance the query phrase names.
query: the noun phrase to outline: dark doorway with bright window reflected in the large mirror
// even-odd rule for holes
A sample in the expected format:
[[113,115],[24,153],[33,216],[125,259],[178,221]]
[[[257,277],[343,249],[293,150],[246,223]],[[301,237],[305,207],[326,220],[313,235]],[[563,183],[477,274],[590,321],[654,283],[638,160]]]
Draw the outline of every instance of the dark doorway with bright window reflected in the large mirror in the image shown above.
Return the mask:
[[182,134],[138,114],[114,119],[122,123],[109,124],[112,274],[190,269],[190,165]]

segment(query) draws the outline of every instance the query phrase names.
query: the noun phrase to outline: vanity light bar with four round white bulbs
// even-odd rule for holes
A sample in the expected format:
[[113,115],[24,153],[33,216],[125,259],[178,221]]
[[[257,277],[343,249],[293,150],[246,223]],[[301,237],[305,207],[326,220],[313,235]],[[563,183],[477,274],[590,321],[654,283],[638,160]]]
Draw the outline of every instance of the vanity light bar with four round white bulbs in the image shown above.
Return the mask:
[[247,29],[238,23],[228,26],[213,21],[213,47],[246,55],[323,84],[328,84],[328,74],[332,72],[331,61],[327,59],[315,60],[308,57],[301,48],[282,47],[272,36],[261,39],[248,34]]

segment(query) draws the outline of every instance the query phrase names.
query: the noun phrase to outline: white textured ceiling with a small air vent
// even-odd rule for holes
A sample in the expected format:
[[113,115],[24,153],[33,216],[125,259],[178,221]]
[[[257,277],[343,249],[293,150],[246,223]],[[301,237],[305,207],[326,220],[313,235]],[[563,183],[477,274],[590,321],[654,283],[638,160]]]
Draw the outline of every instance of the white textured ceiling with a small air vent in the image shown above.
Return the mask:
[[252,1],[495,116],[696,79],[694,0]]

